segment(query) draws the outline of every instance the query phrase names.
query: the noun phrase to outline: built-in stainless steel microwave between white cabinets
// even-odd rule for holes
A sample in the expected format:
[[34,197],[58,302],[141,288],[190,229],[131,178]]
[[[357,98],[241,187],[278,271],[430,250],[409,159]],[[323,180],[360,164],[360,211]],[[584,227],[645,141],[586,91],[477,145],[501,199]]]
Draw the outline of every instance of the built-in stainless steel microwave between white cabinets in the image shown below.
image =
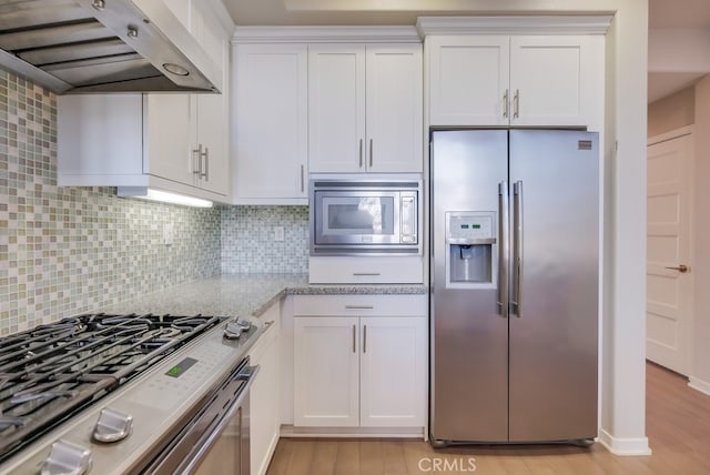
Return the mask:
[[420,254],[420,180],[310,181],[311,255]]

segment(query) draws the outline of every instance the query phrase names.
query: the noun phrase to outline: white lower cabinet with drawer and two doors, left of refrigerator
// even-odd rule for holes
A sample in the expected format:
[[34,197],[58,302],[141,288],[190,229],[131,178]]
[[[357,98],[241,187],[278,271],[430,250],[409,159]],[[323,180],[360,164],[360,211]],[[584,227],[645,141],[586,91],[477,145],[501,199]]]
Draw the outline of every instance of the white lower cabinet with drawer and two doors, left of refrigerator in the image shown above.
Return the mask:
[[294,299],[296,427],[423,427],[424,295]]

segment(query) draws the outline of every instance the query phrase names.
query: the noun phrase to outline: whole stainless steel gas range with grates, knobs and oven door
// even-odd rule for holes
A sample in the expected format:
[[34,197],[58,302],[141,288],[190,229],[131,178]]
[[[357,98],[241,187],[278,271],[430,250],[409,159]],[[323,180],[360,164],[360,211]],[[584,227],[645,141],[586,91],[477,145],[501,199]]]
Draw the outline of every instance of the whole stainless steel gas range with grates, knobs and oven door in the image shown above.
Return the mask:
[[263,326],[87,314],[0,338],[0,473],[248,474]]

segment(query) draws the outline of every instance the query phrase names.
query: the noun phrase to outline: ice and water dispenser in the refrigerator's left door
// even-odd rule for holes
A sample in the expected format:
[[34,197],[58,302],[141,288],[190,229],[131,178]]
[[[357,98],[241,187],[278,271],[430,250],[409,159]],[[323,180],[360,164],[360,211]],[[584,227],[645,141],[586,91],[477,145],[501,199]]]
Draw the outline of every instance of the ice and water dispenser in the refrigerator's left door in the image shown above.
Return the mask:
[[497,281],[495,212],[446,213],[446,286],[491,289]]

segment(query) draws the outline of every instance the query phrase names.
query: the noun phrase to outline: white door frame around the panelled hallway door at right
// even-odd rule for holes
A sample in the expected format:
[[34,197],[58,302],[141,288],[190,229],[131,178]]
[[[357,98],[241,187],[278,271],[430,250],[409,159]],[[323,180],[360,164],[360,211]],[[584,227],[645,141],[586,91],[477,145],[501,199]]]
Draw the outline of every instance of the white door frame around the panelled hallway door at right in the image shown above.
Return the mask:
[[[694,158],[694,151],[696,151],[696,146],[694,146],[694,125],[687,125],[687,127],[682,127],[679,129],[673,129],[671,131],[658,134],[658,135],[653,135],[653,137],[649,137],[647,139],[646,142],[646,150],[647,150],[647,154],[646,154],[646,160],[648,163],[648,148],[651,145],[657,145],[659,143],[662,142],[668,142],[674,139],[680,139],[681,137],[690,137],[690,146],[689,146],[689,160],[687,163],[687,174],[688,174],[688,265],[690,266],[690,272],[688,273],[688,314],[689,314],[689,319],[687,322],[687,329],[686,329],[686,337],[687,337],[687,344],[688,344],[688,348],[687,348],[687,353],[686,353],[686,375],[688,378],[692,377],[693,374],[693,351],[694,351],[694,341],[692,338],[693,335],[693,330],[694,330],[694,324],[696,324],[696,312],[694,312],[694,289],[696,289],[696,277],[694,274],[692,272],[693,269],[693,263],[694,263],[694,252],[693,252],[693,246],[694,246],[694,182],[693,182],[693,176],[694,176],[694,168],[696,168],[696,158]],[[647,185],[648,185],[648,173],[647,173]],[[648,216],[646,219],[647,225],[648,225]],[[647,238],[648,238],[648,231],[647,231]],[[648,257],[647,257],[648,261]],[[647,302],[648,302],[648,297],[647,297]]]

